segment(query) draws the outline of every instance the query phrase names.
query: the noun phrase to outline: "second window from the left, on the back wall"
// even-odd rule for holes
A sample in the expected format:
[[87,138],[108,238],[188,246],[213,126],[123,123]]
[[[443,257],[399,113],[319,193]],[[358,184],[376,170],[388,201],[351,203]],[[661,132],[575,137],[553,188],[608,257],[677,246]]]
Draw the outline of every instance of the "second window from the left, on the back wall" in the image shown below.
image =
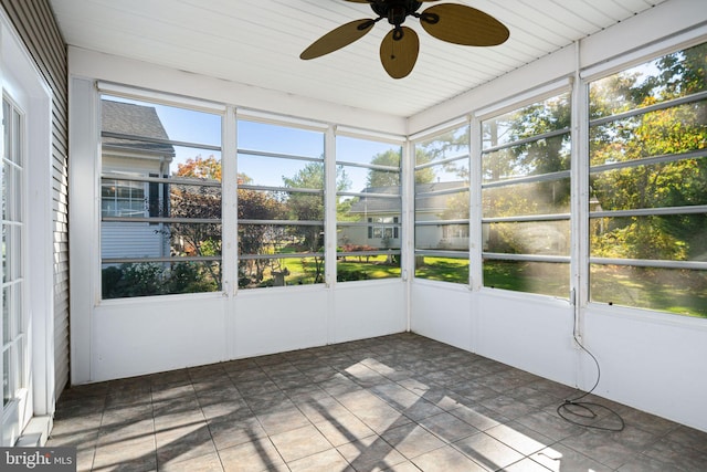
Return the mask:
[[240,119],[238,144],[239,287],[324,283],[324,133]]

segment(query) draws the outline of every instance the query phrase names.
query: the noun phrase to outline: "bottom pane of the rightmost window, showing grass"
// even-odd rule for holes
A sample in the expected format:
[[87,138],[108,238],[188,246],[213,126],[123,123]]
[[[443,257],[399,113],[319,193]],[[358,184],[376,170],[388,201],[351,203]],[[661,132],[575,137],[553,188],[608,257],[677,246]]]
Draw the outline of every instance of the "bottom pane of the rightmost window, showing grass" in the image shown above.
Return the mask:
[[590,265],[591,300],[707,318],[707,271]]

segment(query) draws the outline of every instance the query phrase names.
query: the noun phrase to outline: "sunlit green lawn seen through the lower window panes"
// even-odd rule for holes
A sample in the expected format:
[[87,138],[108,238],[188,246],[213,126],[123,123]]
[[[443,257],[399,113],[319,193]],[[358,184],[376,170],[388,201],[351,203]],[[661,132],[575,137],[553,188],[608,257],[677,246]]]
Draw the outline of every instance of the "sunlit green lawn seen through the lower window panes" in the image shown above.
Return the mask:
[[[317,258],[284,259],[289,271],[287,285],[324,282],[324,263]],[[348,256],[337,262],[337,281],[390,279],[400,276],[400,264],[386,255]],[[418,261],[415,277],[468,283],[468,260],[424,258]],[[260,286],[272,286],[272,274],[265,273]],[[544,262],[487,261],[484,285],[515,292],[539,293],[567,298],[569,268]],[[593,266],[591,298],[597,303],[634,306],[707,318],[707,273],[689,271],[646,270],[635,268]]]

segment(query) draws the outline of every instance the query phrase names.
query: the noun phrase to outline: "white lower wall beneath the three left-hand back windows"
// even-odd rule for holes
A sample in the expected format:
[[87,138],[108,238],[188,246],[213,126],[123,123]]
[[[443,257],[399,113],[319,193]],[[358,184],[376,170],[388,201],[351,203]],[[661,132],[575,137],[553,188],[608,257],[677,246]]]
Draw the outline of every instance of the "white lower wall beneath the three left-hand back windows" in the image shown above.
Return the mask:
[[400,280],[105,301],[83,384],[405,331]]

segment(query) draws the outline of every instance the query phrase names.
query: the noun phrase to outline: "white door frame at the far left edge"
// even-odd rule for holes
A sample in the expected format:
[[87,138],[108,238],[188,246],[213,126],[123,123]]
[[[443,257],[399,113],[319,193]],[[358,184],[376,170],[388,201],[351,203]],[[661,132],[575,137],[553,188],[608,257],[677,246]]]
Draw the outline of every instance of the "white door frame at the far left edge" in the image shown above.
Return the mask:
[[[24,113],[24,310],[28,339],[28,405],[19,428],[3,429],[0,445],[22,433],[41,443],[55,403],[52,198],[52,92],[12,23],[0,9],[0,85]],[[0,135],[1,136],[1,135]],[[2,138],[0,137],[0,141]],[[1,329],[1,327],[0,327]],[[0,374],[2,374],[0,363]],[[1,378],[1,376],[0,376]],[[0,406],[0,418],[4,417]]]

